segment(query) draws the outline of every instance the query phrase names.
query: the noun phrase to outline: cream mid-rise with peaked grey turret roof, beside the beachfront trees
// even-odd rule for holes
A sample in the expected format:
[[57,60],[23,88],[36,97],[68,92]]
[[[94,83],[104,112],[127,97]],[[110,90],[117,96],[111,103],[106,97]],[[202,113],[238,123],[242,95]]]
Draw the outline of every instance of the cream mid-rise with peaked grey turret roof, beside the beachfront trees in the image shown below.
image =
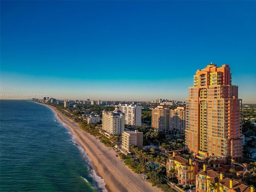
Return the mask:
[[118,106],[113,112],[103,110],[102,129],[110,135],[122,134],[124,131],[124,113],[119,110]]

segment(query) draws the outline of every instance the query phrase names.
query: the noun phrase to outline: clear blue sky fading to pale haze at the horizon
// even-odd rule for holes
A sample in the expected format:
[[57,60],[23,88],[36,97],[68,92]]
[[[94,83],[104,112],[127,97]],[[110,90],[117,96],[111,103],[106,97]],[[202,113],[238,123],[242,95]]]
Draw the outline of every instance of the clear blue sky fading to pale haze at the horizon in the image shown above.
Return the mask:
[[214,62],[256,103],[256,1],[0,3],[1,94],[185,100]]

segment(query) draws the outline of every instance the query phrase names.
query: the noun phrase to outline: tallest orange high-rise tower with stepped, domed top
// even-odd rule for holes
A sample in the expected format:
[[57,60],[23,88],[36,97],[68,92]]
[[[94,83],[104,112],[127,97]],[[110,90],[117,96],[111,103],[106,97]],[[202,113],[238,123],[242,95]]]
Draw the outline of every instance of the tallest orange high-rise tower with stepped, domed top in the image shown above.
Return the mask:
[[211,63],[194,75],[186,99],[186,145],[194,156],[242,161],[242,100],[229,65]]

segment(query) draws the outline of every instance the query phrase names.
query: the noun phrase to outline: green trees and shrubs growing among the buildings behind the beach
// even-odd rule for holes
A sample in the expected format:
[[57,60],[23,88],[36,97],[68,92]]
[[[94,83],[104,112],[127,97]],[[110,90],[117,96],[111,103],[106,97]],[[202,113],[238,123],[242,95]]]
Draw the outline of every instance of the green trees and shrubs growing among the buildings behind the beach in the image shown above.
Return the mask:
[[[102,114],[102,110],[104,109],[111,111],[114,110],[114,107],[108,108],[108,106],[78,105],[75,110],[69,110],[70,113],[69,111],[67,112],[66,109],[58,107],[58,110],[60,110],[65,116],[71,118],[74,122],[78,122],[82,130],[98,138],[105,146],[114,147],[116,144],[120,144],[120,141],[122,140],[121,135],[112,135],[108,138],[102,135],[102,122],[87,124],[86,120],[81,118],[82,114],[86,111]],[[245,110],[247,112],[244,112],[243,110],[244,121],[242,124],[242,131],[246,136],[255,136],[256,127],[252,124],[252,119],[255,118],[254,114],[256,114],[255,109],[248,110],[246,108]],[[151,110],[142,110],[142,121],[146,123],[151,121]],[[184,135],[180,138],[166,137],[164,133],[152,130],[151,126],[146,124],[133,127],[126,126],[126,128],[143,132],[144,146],[154,145],[158,147],[152,147],[148,151],[144,151],[136,146],[132,146],[132,155],[120,154],[119,158],[123,159],[124,164],[134,173],[145,174],[148,176],[148,180],[152,183],[152,186],[158,186],[166,192],[174,191],[165,183],[166,180],[173,180],[175,178],[176,170],[170,170],[169,174],[166,175],[166,160],[170,157],[170,151],[178,149],[183,151],[185,146]],[[251,141],[252,142],[246,143],[243,150],[244,158],[248,160],[250,160],[250,156],[252,156],[250,149],[255,148],[256,146],[254,137],[251,138]],[[188,159],[190,154],[187,151],[183,151],[182,153],[179,153],[179,155]],[[253,163],[251,167],[251,173],[256,172],[256,166]],[[236,174],[235,170],[233,171],[231,169],[230,172],[232,172],[232,175]],[[246,182],[249,184],[255,184],[255,180],[255,176],[248,175],[248,177],[246,177]]]

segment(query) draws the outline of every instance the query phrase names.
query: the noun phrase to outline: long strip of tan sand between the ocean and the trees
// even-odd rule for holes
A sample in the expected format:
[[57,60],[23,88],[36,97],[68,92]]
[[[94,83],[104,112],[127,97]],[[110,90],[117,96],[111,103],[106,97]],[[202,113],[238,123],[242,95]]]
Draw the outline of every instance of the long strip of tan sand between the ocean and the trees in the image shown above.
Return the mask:
[[63,116],[55,107],[48,107],[55,112],[61,123],[68,126],[76,137],[77,144],[84,148],[92,159],[90,165],[96,174],[104,179],[108,192],[161,192],[160,188],[152,187],[150,182],[145,181],[142,174],[132,172],[123,160],[116,156],[115,150],[82,131],[77,123]]

